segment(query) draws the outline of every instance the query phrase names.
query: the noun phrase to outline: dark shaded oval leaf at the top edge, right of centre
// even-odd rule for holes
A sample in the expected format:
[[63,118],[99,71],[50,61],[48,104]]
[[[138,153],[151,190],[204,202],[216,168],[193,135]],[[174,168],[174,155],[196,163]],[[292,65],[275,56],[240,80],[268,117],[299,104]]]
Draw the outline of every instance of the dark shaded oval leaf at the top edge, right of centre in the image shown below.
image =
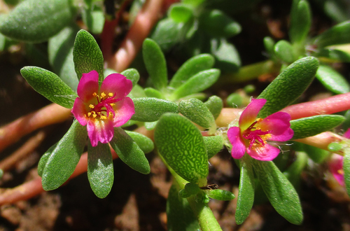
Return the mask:
[[200,15],[200,29],[211,37],[230,38],[241,32],[239,23],[221,10],[207,10]]

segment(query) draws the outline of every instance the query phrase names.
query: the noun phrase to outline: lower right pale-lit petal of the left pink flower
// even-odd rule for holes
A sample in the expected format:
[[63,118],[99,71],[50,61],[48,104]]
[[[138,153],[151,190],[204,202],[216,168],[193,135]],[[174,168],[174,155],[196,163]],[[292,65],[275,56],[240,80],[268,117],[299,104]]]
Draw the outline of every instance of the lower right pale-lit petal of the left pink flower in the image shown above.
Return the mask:
[[128,120],[134,115],[135,107],[134,102],[129,97],[115,103],[116,106],[113,106],[113,109],[116,111],[116,116],[114,117],[113,127],[120,127],[127,123]]

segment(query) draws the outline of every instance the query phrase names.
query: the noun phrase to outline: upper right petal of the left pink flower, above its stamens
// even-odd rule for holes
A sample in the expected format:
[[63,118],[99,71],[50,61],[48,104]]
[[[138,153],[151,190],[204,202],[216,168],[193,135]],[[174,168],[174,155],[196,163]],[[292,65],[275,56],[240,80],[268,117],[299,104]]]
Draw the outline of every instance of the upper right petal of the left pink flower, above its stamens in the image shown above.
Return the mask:
[[111,73],[107,76],[102,85],[100,92],[113,93],[116,99],[123,99],[132,90],[132,81],[128,80],[120,73]]

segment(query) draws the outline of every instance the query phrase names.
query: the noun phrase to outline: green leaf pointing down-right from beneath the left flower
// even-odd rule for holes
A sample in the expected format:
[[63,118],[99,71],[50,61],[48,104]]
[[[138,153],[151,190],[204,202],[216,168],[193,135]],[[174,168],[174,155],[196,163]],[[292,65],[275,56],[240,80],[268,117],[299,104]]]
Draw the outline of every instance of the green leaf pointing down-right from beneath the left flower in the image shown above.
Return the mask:
[[114,136],[109,144],[116,151],[120,160],[125,162],[129,167],[141,174],[149,174],[151,172],[145,153],[122,128],[114,128]]

